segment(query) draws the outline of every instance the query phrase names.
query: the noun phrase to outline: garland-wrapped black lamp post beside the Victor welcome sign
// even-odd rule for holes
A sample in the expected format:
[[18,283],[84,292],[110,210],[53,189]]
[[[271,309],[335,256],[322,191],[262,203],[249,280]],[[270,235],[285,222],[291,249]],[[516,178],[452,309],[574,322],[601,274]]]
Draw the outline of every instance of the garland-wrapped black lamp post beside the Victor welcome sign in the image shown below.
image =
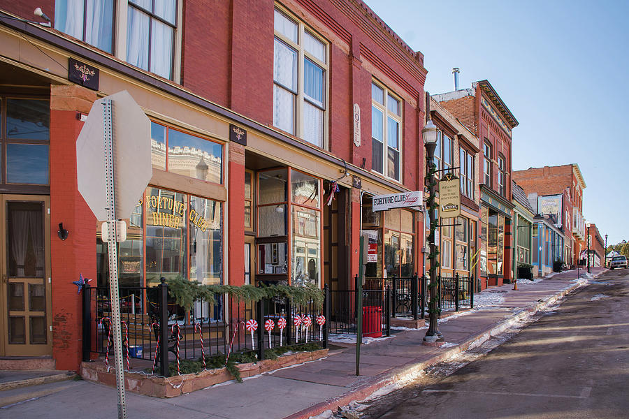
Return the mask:
[[428,325],[428,331],[424,336],[424,344],[435,344],[437,341],[442,341],[441,332],[437,328],[437,314],[438,307],[437,302],[439,297],[437,295],[437,247],[435,246],[435,230],[437,230],[437,216],[435,216],[435,210],[437,205],[435,204],[435,186],[437,181],[435,180],[435,173],[437,172],[437,166],[435,166],[435,148],[441,135],[441,131],[433,124],[431,120],[431,95],[426,92],[426,126],[421,130],[421,137],[424,139],[424,147],[426,147],[426,182],[428,182],[428,200],[426,200],[426,207],[428,208],[428,214],[430,214],[431,228],[428,234],[428,244],[430,246],[431,253],[428,256],[431,268],[428,271],[431,281],[428,285],[430,290],[431,300],[428,303],[428,313],[430,314],[430,323]]

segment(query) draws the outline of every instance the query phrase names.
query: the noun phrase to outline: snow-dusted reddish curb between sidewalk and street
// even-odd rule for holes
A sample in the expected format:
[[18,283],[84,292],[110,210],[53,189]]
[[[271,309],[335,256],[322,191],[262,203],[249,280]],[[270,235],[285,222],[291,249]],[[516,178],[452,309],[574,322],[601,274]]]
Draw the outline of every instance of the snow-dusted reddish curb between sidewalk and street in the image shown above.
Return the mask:
[[[604,272],[600,272],[600,274]],[[598,276],[600,276],[600,274],[598,274]],[[549,305],[559,300],[561,297],[564,297],[565,295],[571,293],[575,289],[581,288],[581,286],[585,286],[586,284],[587,284],[587,280],[581,279],[575,282],[574,284],[572,284],[571,286],[568,286],[564,290],[559,291],[558,293],[551,295],[550,297],[547,297],[545,300],[542,300],[541,302],[537,302],[537,304],[535,304],[533,307],[529,307],[528,309],[521,309],[521,311],[517,312],[511,317],[506,318],[505,320],[500,321],[499,323],[490,325],[484,330],[480,330],[479,332],[477,332],[475,336],[470,337],[470,339],[461,342],[461,344],[459,344],[458,346],[454,348],[451,348],[447,351],[436,354],[428,360],[425,360],[422,362],[415,362],[415,363],[411,362],[410,364],[396,367],[389,372],[384,372],[382,374],[379,374],[373,377],[370,383],[359,385],[358,387],[354,389],[350,389],[349,392],[345,393],[344,395],[326,399],[324,402],[319,402],[306,409],[293,413],[290,416],[284,417],[284,419],[308,419],[311,416],[317,416],[326,410],[335,411],[335,409],[337,409],[338,407],[347,406],[351,402],[364,400],[370,395],[372,395],[374,392],[376,392],[377,390],[385,387],[386,385],[390,385],[390,384],[396,383],[397,381],[404,381],[409,378],[412,378],[412,376],[414,376],[415,374],[418,374],[419,372],[423,371],[427,367],[431,367],[431,365],[435,365],[444,360],[448,360],[449,358],[452,358],[454,355],[458,355],[458,353],[468,351],[468,349],[475,348],[476,346],[483,344],[485,341],[489,340],[492,336],[500,335],[500,333],[507,330],[514,323],[517,323],[523,320],[524,318],[528,318],[529,316],[532,316],[537,311],[540,311],[541,309],[548,307]]]

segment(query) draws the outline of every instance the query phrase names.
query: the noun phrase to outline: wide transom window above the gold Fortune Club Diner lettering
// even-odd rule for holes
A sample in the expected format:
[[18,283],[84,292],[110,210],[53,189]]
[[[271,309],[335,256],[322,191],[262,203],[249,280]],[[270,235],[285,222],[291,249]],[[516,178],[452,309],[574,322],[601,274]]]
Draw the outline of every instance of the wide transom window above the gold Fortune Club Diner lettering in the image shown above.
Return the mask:
[[151,122],[151,159],[156,169],[223,183],[221,144],[157,122]]

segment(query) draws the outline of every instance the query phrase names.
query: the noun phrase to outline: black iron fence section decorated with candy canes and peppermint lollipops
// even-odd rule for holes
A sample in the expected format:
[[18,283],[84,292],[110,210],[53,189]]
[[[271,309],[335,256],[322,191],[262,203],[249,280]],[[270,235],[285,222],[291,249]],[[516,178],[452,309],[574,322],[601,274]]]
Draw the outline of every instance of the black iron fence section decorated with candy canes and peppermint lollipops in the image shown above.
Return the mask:
[[[327,347],[330,295],[324,291],[322,309],[287,297],[251,302],[215,295],[185,310],[168,297],[166,283],[120,288],[123,355],[150,360],[157,374],[168,376],[168,364],[178,359],[254,351],[263,360],[268,348],[312,341]],[[112,325],[109,288],[86,286],[83,360],[113,356]]]

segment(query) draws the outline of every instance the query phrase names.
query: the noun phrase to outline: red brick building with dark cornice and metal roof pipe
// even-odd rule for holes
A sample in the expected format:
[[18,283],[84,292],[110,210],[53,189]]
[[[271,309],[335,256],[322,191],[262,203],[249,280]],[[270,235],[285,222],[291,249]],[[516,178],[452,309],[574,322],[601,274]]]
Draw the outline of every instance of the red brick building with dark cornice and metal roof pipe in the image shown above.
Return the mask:
[[433,96],[479,138],[479,278],[482,289],[512,279],[512,129],[518,122],[487,80]]

